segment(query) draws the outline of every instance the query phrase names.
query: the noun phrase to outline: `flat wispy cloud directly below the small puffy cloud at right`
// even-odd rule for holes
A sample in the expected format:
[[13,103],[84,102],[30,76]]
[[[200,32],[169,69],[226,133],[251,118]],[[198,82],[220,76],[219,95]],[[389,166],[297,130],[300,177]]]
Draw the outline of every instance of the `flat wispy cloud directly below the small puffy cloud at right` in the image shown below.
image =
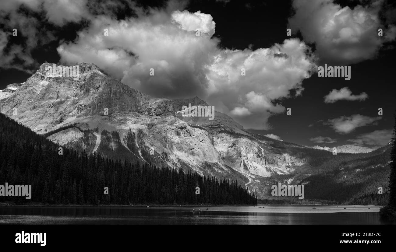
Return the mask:
[[362,116],[360,114],[355,114],[352,116],[341,116],[334,119],[329,119],[325,122],[325,125],[330,125],[335,132],[340,134],[347,134],[358,127],[363,127],[366,125],[377,125],[377,121],[382,119],[381,116],[378,117],[369,117]]

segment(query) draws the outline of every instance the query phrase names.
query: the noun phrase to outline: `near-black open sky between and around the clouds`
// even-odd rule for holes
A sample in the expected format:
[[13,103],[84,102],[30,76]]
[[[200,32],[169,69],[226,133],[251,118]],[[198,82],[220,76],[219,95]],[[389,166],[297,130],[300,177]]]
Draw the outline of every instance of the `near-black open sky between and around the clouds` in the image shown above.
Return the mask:
[[[120,1],[122,3],[123,1]],[[341,6],[353,8],[359,1],[337,1]],[[162,7],[166,4],[162,1],[138,1],[138,5],[145,7]],[[274,43],[282,43],[288,28],[288,19],[293,15],[291,1],[214,1],[214,0],[192,0],[186,4],[185,9],[190,12],[201,11],[210,14],[215,21],[214,36],[220,39],[220,47],[228,49],[243,50],[250,46],[253,51],[258,48],[267,48]],[[118,11],[118,19],[133,16],[133,9],[123,8]],[[4,19],[3,19],[4,21]],[[54,38],[47,44],[39,45],[31,55],[36,61],[30,69],[35,71],[44,62],[58,63],[60,55],[57,47],[61,42],[73,41],[76,39],[77,32],[87,27],[87,21],[69,23],[59,27],[51,24],[42,24],[44,28],[53,32]],[[4,28],[0,24],[0,29]],[[304,40],[301,32],[294,33],[293,37]],[[10,44],[24,45],[22,38],[11,38]],[[314,43],[311,45],[315,49]],[[375,57],[360,61],[358,63],[345,64],[351,66],[351,79],[345,81],[344,78],[319,78],[313,74],[310,78],[303,80],[303,92],[301,96],[289,96],[276,100],[285,108],[291,108],[291,116],[286,115],[286,111],[281,114],[274,114],[269,117],[268,123],[272,129],[266,131],[255,130],[257,133],[274,134],[280,136],[284,141],[294,142],[307,146],[327,146],[334,147],[343,144],[353,144],[348,139],[366,139],[360,145],[367,147],[377,146],[378,143],[372,142],[371,138],[376,135],[375,131],[392,129],[394,124],[393,114],[395,106],[396,88],[394,85],[395,71],[395,49],[394,41],[381,47]],[[314,51],[315,52],[315,51]],[[93,62],[95,63],[95,62]],[[327,62],[319,59],[318,65]],[[21,83],[31,76],[25,71],[2,68],[0,64],[0,89],[10,83]],[[366,100],[338,100],[334,103],[325,103],[324,96],[333,89],[348,87],[353,95],[366,93]],[[293,92],[293,91],[291,91]],[[187,97],[186,97],[187,98]],[[373,123],[367,123],[362,127],[356,127],[349,133],[335,131],[329,125],[328,120],[339,117],[350,117],[359,114],[361,116],[378,117],[378,108],[383,108],[383,116]],[[308,127],[310,125],[310,127]],[[381,132],[377,132],[381,134]],[[385,133],[385,131],[384,131]],[[362,134],[368,134],[364,137]],[[370,135],[371,134],[371,135]],[[310,138],[318,136],[328,137],[336,142],[327,140],[325,142],[315,142]],[[370,140],[371,139],[371,140]],[[371,142],[370,142],[371,141]],[[358,143],[355,141],[355,143]]]

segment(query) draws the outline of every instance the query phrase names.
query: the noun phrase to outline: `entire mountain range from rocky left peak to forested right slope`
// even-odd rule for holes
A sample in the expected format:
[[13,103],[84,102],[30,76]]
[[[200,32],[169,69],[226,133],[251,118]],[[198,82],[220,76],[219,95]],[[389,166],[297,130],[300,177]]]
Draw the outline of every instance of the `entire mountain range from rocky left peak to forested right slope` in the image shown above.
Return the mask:
[[[24,83],[0,91],[0,112],[61,146],[100,152],[121,161],[182,167],[204,176],[235,179],[262,199],[271,198],[268,190],[277,182],[315,185],[308,189],[313,196],[306,193],[307,199],[331,202],[339,202],[330,196],[334,192],[328,191],[333,186],[345,189],[354,185],[349,188],[350,196],[342,199],[345,202],[375,194],[378,184],[386,186],[389,146],[373,151],[344,145],[333,155],[331,150],[251,133],[217,111],[213,120],[184,117],[182,106],[208,104],[198,97],[150,97],[110,78],[95,64],[76,64],[78,80],[48,75],[46,66],[53,64],[42,64]],[[362,180],[367,178],[370,185],[360,185],[362,180],[353,178],[359,177],[360,171],[368,174]],[[326,176],[326,184],[332,186],[315,193],[321,186],[317,182]]]

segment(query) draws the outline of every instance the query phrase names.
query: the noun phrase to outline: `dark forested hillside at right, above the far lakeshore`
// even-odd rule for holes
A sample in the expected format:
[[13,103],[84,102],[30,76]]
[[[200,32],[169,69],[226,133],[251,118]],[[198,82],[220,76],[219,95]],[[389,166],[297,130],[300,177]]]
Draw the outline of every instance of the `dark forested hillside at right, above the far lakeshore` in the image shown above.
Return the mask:
[[[323,150],[305,150],[308,164],[290,174],[263,178],[268,204],[386,205],[391,146],[373,152],[332,155]],[[278,182],[304,184],[305,198],[271,197],[270,186]],[[252,186],[253,187],[253,186]],[[379,187],[382,194],[379,194]],[[249,187],[251,188],[251,187]]]

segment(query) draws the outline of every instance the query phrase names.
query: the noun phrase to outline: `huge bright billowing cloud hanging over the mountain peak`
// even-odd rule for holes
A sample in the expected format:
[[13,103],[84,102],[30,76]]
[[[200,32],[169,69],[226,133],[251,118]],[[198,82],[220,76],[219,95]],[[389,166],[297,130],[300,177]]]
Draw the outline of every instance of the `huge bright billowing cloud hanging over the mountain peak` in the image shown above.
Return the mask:
[[[109,36],[103,36],[106,27]],[[197,27],[207,34],[196,36]],[[214,30],[211,16],[200,12],[152,9],[122,21],[101,16],[58,53],[61,63],[93,62],[154,97],[198,95],[245,128],[269,129],[268,118],[285,110],[273,100],[292,89],[301,94],[301,82],[316,69],[310,48],[294,38],[254,51],[222,49],[210,35]]]

